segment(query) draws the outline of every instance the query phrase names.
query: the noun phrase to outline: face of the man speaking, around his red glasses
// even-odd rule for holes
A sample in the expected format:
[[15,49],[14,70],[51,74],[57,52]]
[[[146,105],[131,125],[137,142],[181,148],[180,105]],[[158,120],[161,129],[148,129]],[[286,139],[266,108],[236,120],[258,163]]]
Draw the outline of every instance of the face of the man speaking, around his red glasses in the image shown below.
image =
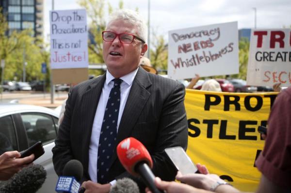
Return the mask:
[[[113,20],[107,26],[107,31],[119,33],[131,33],[137,35],[137,28],[123,20]],[[113,42],[103,41],[103,59],[108,71],[119,78],[134,71],[140,58],[145,54],[147,45],[134,39],[131,44],[122,44],[116,37]]]

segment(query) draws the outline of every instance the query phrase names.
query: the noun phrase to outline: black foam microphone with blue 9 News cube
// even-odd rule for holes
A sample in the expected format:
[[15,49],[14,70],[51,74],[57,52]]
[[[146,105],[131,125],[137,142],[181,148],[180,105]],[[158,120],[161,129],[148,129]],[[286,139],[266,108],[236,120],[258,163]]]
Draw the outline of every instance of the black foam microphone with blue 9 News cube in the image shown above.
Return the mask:
[[63,176],[60,176],[56,185],[57,193],[78,193],[83,176],[83,165],[78,160],[70,160],[65,164]]

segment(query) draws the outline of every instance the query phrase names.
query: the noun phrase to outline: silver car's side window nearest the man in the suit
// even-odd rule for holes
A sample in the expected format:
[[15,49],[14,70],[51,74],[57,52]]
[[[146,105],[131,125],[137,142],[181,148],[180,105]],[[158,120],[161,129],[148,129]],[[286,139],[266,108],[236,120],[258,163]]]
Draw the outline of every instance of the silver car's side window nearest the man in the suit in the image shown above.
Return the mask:
[[56,124],[50,115],[43,113],[22,113],[21,118],[26,130],[29,146],[32,146],[37,141],[46,144],[56,138]]

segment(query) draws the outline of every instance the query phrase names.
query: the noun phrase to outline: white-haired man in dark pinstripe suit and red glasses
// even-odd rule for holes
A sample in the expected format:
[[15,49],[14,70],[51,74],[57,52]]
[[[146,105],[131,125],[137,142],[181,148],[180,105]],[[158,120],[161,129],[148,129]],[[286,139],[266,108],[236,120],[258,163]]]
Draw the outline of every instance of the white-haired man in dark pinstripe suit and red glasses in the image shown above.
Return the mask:
[[[82,184],[86,191],[108,193],[116,179],[130,177],[117,158],[116,146],[134,137],[149,151],[153,173],[163,180],[173,180],[177,171],[164,149],[187,148],[184,86],[139,67],[147,44],[146,23],[138,13],[116,12],[102,37],[107,72],[74,86],[68,94],[52,149],[55,171],[62,175],[65,163],[77,159],[84,167],[82,181],[89,180]],[[113,113],[107,114],[111,110]],[[114,128],[108,136],[106,128]],[[100,161],[104,151],[110,151],[105,162]]]

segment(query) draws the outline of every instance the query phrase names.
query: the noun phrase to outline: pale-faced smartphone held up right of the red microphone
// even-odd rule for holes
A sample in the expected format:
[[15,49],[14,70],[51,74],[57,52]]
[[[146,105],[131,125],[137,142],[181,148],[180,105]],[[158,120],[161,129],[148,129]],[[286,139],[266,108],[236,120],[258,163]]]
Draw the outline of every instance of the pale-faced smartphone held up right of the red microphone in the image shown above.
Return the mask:
[[199,173],[196,165],[182,147],[165,148],[165,152],[182,175]]

